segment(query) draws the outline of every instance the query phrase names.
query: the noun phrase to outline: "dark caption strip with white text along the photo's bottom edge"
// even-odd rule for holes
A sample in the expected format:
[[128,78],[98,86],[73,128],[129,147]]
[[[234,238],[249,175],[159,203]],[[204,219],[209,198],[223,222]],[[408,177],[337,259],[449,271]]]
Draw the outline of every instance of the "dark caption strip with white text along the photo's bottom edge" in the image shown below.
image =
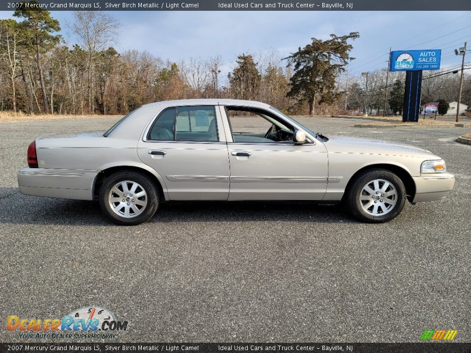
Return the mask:
[[0,352],[471,352],[471,343],[0,343]]

